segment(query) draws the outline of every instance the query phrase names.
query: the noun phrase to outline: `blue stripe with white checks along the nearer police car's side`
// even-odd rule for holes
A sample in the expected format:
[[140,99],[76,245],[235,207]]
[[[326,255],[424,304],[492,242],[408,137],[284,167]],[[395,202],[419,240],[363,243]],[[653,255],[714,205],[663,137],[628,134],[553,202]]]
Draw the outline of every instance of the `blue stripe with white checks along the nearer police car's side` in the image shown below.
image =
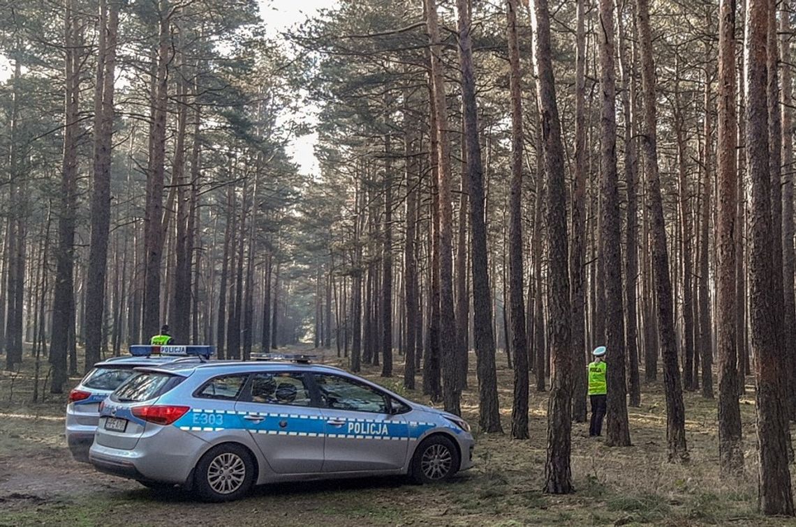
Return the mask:
[[[245,416],[263,417],[257,422]],[[342,422],[334,426],[326,421]],[[280,423],[287,426],[281,427]],[[192,409],[174,426],[186,432],[222,432],[248,430],[269,436],[327,437],[351,440],[418,440],[435,423],[423,421],[392,421],[351,417],[324,417],[302,413],[239,412],[236,410]]]

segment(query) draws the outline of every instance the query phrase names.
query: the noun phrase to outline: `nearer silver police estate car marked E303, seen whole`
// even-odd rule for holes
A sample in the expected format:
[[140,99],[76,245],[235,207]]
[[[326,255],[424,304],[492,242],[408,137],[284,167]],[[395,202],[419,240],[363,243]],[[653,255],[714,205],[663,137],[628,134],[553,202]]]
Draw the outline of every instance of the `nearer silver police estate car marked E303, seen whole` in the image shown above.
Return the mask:
[[472,466],[466,421],[303,356],[144,366],[100,408],[89,454],[145,486],[225,502],[269,482],[410,475]]

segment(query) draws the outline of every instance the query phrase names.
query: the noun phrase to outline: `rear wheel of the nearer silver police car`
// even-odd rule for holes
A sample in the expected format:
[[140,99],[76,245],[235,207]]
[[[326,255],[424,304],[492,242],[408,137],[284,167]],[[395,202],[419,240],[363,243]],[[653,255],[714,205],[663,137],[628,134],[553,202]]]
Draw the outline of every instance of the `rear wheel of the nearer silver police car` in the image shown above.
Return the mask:
[[207,502],[232,502],[254,485],[255,464],[249,451],[237,444],[220,444],[201,456],[193,486]]

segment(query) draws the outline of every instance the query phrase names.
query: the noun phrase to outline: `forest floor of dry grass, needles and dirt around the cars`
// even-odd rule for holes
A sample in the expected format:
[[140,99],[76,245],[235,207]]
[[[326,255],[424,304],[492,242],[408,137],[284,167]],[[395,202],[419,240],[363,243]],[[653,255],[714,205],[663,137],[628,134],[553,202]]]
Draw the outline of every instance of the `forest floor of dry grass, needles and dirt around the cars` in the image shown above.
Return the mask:
[[[400,372],[401,358],[396,359]],[[513,376],[505,355],[497,359],[503,428],[509,431]],[[345,365],[334,352],[327,351],[323,360]],[[471,387],[474,362],[471,355]],[[573,424],[575,494],[540,491],[548,393],[532,389],[530,440],[476,433],[475,467],[450,483],[362,479],[271,485],[238,502],[205,504],[178,490],[156,493],[73,461],[63,433],[66,396],[47,394],[44,402],[31,404],[31,373],[0,372],[0,525],[794,525],[792,519],[755,512],[751,386],[741,400],[747,469],[735,482],[719,478],[716,401],[699,393],[685,394],[691,461],[667,463],[665,403],[661,384],[653,383],[642,387],[642,406],[630,409],[632,447],[608,448],[602,439],[588,437],[587,424]],[[376,367],[364,372],[425,401],[419,390],[404,390],[400,376],[379,374]],[[471,424],[478,422],[477,397],[474,389],[463,394],[462,412]]]

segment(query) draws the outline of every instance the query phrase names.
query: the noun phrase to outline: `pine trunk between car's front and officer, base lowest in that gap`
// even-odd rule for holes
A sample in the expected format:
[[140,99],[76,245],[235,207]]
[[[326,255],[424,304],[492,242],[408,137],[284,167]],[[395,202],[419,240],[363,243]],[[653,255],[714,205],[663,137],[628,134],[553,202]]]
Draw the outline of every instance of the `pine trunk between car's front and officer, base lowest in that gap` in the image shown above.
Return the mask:
[[544,138],[544,168],[548,180],[547,227],[550,266],[548,271],[548,335],[552,358],[548,401],[547,460],[544,491],[572,492],[572,341],[569,316],[567,248],[567,197],[564,181],[564,145],[556,105],[556,86],[550,51],[550,14],[547,0],[534,3],[534,37],[537,60],[537,90]]

